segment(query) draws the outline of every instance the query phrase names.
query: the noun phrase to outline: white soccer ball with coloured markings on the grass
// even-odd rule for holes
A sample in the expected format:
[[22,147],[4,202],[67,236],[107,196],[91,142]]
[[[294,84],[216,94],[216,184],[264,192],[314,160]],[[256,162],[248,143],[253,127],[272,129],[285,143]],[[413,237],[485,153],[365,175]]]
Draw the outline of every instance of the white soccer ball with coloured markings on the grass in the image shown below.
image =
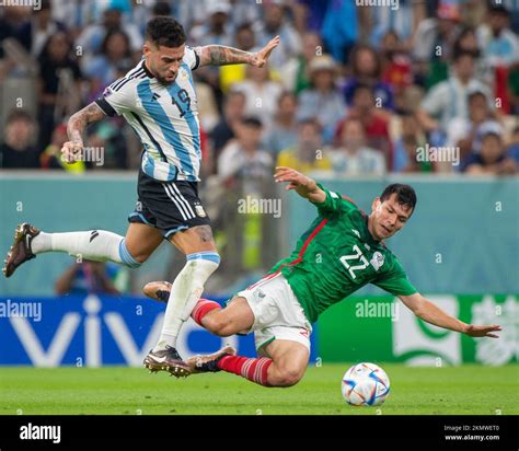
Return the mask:
[[354,365],[343,378],[343,396],[354,406],[379,406],[389,395],[385,371],[374,363]]

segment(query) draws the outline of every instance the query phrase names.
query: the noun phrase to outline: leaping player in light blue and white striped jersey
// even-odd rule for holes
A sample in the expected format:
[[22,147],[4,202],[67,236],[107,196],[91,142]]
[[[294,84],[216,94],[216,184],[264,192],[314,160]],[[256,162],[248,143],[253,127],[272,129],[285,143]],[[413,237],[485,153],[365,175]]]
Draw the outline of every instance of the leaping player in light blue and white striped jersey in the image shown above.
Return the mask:
[[279,36],[258,53],[219,45],[189,48],[185,42],[185,32],[174,19],[152,19],[147,25],[142,60],[68,123],[70,141],[61,152],[70,162],[84,150],[85,127],[105,116],[123,116],[140,138],[143,152],[138,201],[129,215],[126,236],[104,230],[45,233],[22,223],[3,268],[10,277],[24,262],[45,252],[67,252],[136,268],[163,239],[170,241],[187,261],[173,282],[161,336],[145,365],[153,370],[171,370],[177,377],[188,367],[175,349],[176,337],[220,263],[209,218],[198,198],[201,154],[192,72],[209,65],[263,67],[278,46]]

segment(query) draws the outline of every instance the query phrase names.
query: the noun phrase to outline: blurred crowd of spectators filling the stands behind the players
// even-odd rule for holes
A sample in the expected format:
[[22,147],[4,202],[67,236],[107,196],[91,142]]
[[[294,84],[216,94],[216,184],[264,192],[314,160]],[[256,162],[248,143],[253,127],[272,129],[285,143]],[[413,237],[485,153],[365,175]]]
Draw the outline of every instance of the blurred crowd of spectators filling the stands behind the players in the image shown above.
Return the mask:
[[[103,164],[66,164],[68,117],[141,58],[146,22],[173,15],[192,47],[255,51],[267,67],[194,72],[203,178],[223,185],[274,165],[334,177],[516,174],[519,1],[42,0],[0,8],[0,167],[135,170],[120,117],[88,130]],[[376,2],[377,3],[377,2]],[[366,5],[364,5],[366,4]],[[250,186],[247,190],[254,190]]]

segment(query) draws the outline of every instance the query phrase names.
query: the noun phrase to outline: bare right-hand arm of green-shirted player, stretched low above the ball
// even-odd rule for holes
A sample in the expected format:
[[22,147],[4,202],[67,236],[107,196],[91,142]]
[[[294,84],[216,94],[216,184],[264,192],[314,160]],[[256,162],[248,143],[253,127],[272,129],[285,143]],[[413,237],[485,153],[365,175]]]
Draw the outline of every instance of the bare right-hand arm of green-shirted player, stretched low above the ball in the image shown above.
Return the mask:
[[443,312],[438,305],[424,298],[419,293],[399,296],[399,298],[406,307],[412,310],[416,316],[438,327],[461,332],[462,334],[466,334],[471,337],[491,338],[498,338],[498,336],[493,334],[493,332],[499,332],[501,329],[501,327],[497,324],[493,324],[491,326],[476,326],[474,324],[463,323],[462,321]]

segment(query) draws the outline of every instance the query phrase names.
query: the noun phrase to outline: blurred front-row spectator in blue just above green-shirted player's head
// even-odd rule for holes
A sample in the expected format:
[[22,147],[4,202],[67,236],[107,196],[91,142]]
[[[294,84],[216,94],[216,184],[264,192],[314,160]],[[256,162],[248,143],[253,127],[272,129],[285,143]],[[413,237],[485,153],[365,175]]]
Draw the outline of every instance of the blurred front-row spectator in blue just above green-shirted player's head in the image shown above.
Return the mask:
[[[405,111],[401,115],[402,134],[394,144],[393,172],[431,172],[437,167],[429,161],[419,161],[417,149],[425,148],[427,137],[416,114]],[[435,164],[436,165],[436,164]]]

